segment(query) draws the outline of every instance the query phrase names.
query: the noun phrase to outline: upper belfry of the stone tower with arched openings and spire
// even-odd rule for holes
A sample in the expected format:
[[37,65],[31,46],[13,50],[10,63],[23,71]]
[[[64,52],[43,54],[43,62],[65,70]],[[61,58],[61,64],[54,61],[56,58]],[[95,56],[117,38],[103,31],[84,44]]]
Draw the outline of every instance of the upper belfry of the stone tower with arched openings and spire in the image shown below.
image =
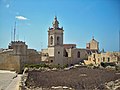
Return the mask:
[[59,28],[59,22],[55,16],[53,27],[48,30],[48,47],[63,45],[63,27]]

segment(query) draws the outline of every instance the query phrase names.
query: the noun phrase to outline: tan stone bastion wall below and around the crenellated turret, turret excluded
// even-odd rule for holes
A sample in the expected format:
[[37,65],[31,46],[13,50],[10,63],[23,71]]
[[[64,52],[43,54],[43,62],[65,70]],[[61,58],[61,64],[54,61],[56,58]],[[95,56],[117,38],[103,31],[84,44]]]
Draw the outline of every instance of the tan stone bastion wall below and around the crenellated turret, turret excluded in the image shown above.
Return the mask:
[[27,55],[14,54],[12,49],[0,53],[0,69],[14,70],[21,73],[26,64],[39,64],[41,54],[34,49],[28,49]]

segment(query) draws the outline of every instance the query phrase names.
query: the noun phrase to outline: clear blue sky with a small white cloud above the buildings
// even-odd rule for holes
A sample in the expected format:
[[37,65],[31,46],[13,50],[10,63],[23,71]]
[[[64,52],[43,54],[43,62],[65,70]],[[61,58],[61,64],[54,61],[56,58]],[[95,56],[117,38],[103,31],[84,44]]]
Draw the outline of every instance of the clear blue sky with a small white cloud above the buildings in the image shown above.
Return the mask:
[[85,48],[92,36],[100,49],[118,51],[120,0],[0,0],[0,48],[7,48],[17,23],[17,40],[47,48],[54,16],[64,28],[64,43]]

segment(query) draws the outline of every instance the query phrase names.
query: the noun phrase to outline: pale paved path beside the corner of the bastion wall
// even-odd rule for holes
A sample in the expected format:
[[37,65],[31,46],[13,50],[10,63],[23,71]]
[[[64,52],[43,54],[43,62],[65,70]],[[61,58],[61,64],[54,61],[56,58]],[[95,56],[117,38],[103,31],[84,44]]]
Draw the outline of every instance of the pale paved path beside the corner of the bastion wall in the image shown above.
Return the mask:
[[0,90],[19,90],[22,75],[15,72],[0,70]]

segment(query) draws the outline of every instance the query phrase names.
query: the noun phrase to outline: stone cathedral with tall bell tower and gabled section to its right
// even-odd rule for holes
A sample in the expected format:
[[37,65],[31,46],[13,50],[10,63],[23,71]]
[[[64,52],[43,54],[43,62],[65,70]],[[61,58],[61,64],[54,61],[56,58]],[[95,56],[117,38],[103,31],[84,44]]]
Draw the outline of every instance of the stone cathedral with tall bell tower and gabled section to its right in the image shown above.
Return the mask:
[[52,28],[48,29],[48,48],[41,51],[41,61],[53,65],[72,65],[82,62],[92,52],[99,51],[99,43],[93,38],[86,49],[76,48],[76,44],[64,44],[64,29],[59,27],[55,16]]

